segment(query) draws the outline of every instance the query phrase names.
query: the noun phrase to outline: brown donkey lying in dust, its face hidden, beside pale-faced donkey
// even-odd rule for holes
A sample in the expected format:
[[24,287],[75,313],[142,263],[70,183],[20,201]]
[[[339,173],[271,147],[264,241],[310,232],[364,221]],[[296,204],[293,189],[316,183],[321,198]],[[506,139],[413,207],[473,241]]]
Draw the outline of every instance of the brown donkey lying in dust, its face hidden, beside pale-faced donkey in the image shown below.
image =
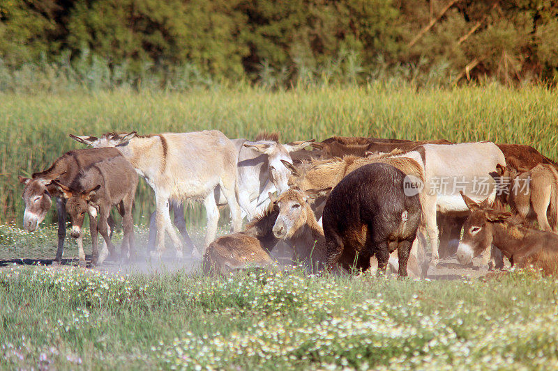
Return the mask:
[[278,212],[267,207],[243,232],[219,237],[211,242],[204,255],[204,274],[227,274],[247,267],[266,268],[273,265],[269,251],[279,241],[272,232]]

